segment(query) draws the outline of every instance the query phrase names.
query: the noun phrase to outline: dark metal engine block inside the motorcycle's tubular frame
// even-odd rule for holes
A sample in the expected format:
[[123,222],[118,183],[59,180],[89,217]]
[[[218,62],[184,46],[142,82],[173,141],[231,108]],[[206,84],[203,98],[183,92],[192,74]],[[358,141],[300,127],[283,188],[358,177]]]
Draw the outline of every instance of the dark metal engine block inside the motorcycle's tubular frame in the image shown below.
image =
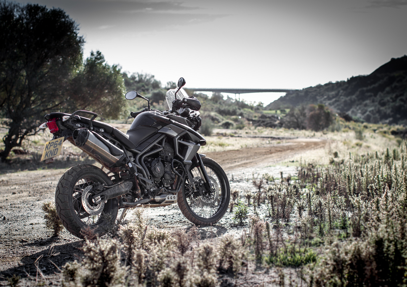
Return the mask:
[[175,174],[171,168],[171,162],[174,158],[174,149],[168,142],[164,143],[163,150],[156,158],[146,158],[146,166],[150,171],[152,180],[156,183],[156,188],[164,187],[171,189],[175,181]]

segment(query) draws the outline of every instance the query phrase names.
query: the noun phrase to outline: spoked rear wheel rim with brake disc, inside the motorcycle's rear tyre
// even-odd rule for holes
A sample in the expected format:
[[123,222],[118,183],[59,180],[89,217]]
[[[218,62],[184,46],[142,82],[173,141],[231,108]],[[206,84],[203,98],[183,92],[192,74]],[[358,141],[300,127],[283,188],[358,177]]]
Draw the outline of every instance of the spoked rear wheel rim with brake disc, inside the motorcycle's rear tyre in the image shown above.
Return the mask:
[[76,216],[85,225],[95,225],[100,223],[102,215],[107,208],[106,202],[97,205],[93,204],[90,197],[93,193],[93,185],[103,181],[96,178],[81,178],[72,190],[72,204]]

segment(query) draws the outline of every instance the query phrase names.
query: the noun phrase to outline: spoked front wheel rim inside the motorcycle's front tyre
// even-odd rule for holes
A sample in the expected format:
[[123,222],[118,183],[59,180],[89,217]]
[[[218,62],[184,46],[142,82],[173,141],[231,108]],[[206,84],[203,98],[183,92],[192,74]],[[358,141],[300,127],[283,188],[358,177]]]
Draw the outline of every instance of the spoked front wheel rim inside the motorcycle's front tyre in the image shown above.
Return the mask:
[[205,166],[205,169],[207,170],[211,184],[211,192],[209,194],[203,194],[203,180],[200,177],[198,168],[195,167],[191,170],[191,173],[194,177],[196,191],[189,190],[189,182],[187,180],[185,184],[185,199],[188,208],[192,213],[202,219],[209,219],[215,217],[218,212],[222,210],[225,202],[225,199],[223,198],[225,189],[222,188],[223,185],[221,178],[215,173],[215,171],[209,166]]

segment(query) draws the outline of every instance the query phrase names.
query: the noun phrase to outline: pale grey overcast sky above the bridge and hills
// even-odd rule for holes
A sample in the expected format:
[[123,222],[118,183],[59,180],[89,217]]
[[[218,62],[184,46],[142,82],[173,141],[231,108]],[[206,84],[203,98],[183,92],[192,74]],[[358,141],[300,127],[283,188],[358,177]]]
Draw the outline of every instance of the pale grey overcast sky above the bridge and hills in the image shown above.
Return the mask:
[[407,0],[31,3],[62,8],[79,24],[84,58],[100,50],[109,65],[163,85],[183,76],[187,88],[303,89],[407,54]]

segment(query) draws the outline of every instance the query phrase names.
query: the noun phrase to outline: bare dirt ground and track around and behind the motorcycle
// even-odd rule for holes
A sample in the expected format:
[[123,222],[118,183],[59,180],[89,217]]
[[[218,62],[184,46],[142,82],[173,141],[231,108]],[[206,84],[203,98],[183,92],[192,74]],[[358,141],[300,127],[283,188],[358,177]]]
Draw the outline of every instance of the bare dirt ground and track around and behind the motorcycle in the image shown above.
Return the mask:
[[[276,178],[280,171],[284,176],[294,175],[293,166],[278,165],[294,155],[325,147],[324,139],[294,138],[269,146],[245,148],[226,152],[208,152],[207,156],[218,161],[225,169],[231,188],[247,190],[252,187],[254,175],[268,173]],[[59,237],[51,237],[45,228],[43,203],[54,201],[57,182],[65,169],[40,169],[18,171],[0,175],[0,285],[8,285],[8,278],[20,276],[20,286],[37,283],[61,286],[60,268],[80,255],[82,240],[63,231]],[[121,211],[119,211],[120,214]],[[149,224],[173,230],[192,226],[177,205],[146,209]],[[129,212],[126,219],[131,218]],[[239,235],[248,226],[232,224],[232,214],[227,212],[216,225],[199,227],[201,238],[213,238],[225,234]],[[255,273],[266,272],[266,277]],[[284,271],[291,272],[291,271]],[[289,274],[286,274],[288,277]],[[253,271],[246,274],[244,285],[274,285],[277,271]],[[260,278],[260,279],[259,279]],[[265,279],[267,278],[267,279]],[[21,285],[22,284],[22,285]],[[233,285],[233,284],[231,284]]]

